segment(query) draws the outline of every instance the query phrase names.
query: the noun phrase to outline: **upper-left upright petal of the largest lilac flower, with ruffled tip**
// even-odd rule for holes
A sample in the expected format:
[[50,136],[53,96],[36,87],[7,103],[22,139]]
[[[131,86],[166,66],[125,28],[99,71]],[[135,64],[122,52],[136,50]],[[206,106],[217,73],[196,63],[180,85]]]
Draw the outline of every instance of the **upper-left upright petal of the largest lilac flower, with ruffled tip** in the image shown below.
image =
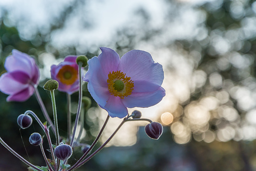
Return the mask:
[[100,48],[102,53],[98,56],[103,75],[108,79],[108,74],[116,71],[120,61],[119,55],[110,48]]

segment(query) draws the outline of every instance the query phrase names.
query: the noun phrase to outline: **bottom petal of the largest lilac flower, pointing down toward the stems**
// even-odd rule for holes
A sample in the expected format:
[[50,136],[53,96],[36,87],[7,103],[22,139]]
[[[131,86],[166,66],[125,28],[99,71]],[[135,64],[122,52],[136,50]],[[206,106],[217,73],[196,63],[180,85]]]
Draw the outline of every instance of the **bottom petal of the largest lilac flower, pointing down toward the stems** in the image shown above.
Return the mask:
[[109,115],[113,117],[123,118],[128,115],[127,108],[123,105],[120,97],[110,96],[105,106],[101,108],[108,111]]

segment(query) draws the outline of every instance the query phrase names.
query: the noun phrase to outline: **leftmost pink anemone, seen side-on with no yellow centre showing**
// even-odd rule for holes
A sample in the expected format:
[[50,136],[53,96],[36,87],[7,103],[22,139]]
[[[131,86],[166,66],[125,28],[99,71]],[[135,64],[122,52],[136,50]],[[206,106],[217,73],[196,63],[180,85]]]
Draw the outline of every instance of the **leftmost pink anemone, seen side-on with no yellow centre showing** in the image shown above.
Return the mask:
[[8,94],[7,101],[26,101],[33,95],[39,82],[39,69],[35,60],[26,53],[12,50],[5,61],[4,73],[0,77],[0,91]]

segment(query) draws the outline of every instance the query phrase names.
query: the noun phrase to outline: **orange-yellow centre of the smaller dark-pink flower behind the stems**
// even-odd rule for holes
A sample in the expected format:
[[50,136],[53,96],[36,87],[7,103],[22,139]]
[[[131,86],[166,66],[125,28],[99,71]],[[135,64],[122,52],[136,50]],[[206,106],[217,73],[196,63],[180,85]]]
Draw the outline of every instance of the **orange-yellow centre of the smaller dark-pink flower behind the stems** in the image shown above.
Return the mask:
[[60,82],[71,85],[73,84],[77,78],[78,78],[78,72],[76,71],[75,68],[71,66],[63,66],[58,74],[57,78],[60,80]]

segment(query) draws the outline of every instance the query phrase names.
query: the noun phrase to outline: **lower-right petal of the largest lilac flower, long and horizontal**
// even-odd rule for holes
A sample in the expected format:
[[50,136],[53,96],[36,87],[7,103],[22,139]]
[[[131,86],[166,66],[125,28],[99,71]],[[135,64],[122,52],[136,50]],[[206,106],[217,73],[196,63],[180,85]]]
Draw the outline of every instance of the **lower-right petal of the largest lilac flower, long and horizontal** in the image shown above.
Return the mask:
[[130,96],[122,99],[127,108],[147,108],[159,103],[165,96],[165,90],[160,87],[157,91],[147,93],[132,93]]

